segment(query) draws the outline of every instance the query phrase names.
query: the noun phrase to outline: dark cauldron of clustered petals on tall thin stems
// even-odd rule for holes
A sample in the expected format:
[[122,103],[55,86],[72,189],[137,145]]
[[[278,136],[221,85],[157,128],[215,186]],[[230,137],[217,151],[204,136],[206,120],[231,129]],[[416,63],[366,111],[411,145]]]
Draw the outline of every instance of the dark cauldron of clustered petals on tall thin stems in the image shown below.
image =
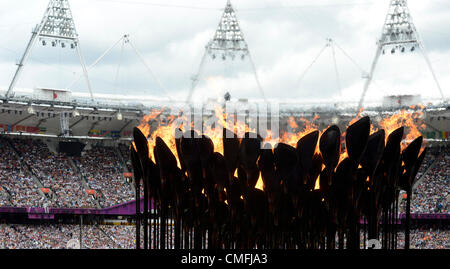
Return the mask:
[[[223,154],[214,152],[207,136],[178,130],[178,156],[157,137],[155,161],[146,136],[135,128],[130,152],[138,200],[141,182],[144,187],[143,213],[136,203],[136,247],[359,249],[366,239],[377,239],[382,248],[395,249],[401,190],[408,195],[408,247],[411,188],[426,154],[423,138],[402,150],[404,127],[387,135],[370,134],[370,125],[363,117],[347,128],[345,158],[341,130],[333,125],[320,136],[303,136],[296,147],[274,148],[257,134],[238,139],[224,129]],[[263,190],[255,188],[259,177]],[[149,224],[156,228],[149,232]]]

